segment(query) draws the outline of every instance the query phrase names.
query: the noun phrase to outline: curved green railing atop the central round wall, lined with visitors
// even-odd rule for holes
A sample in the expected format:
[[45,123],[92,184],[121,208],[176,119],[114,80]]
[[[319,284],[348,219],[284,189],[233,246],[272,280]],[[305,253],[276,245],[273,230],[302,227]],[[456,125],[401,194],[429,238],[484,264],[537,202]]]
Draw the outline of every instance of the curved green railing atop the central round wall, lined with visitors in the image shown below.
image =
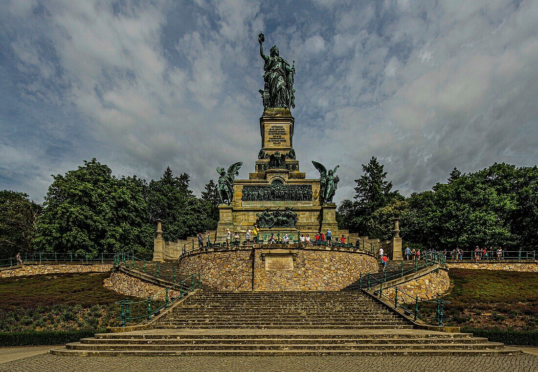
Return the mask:
[[[300,232],[298,233],[288,233],[288,232],[273,232],[275,237],[275,245],[295,245],[300,248],[304,249],[332,249],[335,251],[365,251],[372,254],[375,254],[376,248],[375,246],[365,240],[358,240],[356,244],[344,244],[339,241],[331,240],[331,241],[320,241],[320,240],[314,240],[313,237],[310,238],[310,244],[308,242],[301,242],[300,240]],[[285,234],[288,235],[288,241],[284,241]],[[181,252],[180,257],[183,257],[188,254],[193,253],[199,253],[199,252],[215,252],[215,251],[226,251],[228,249],[252,249],[253,244],[265,244],[270,245],[269,240],[271,238],[270,234],[264,233],[263,236],[261,234],[258,234],[256,237],[254,235],[251,235],[250,241],[241,239],[233,239],[233,234],[231,239],[226,239],[226,237],[217,237],[214,239],[207,238],[199,240],[192,240],[190,243],[183,244],[183,249]]]

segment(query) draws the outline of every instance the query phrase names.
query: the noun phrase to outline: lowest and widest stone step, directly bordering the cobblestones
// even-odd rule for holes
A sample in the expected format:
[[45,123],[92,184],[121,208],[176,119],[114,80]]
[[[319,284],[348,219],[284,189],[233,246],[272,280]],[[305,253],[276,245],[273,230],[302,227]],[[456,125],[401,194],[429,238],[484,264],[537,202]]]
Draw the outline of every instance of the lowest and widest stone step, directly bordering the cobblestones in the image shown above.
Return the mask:
[[422,355],[422,356],[484,356],[484,355],[519,355],[521,350],[515,348],[489,349],[489,350],[459,350],[459,349],[302,349],[302,350],[75,350],[54,348],[51,350],[54,355],[102,355],[102,356],[286,356],[286,355],[356,355],[356,356],[391,356],[391,355]]

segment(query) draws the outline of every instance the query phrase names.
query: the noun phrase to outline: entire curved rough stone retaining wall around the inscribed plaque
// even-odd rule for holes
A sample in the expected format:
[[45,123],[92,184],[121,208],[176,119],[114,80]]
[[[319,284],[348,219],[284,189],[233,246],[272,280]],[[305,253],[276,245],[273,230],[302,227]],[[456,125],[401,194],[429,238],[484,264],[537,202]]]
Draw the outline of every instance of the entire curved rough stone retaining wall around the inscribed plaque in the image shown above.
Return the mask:
[[[360,274],[378,269],[376,258],[363,253],[290,249],[293,271],[266,271],[261,250],[254,260],[254,290],[331,291],[359,280]],[[200,273],[209,287],[222,291],[252,290],[252,251],[203,252],[185,256],[181,273]]]

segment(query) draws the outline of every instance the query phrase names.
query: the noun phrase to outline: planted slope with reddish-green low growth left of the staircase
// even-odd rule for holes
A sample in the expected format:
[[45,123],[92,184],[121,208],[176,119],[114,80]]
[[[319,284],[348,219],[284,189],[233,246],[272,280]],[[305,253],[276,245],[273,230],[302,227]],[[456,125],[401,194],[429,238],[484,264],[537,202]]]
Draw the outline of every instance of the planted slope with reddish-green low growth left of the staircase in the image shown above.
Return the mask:
[[125,296],[103,287],[103,280],[109,276],[110,273],[2,278],[0,332],[73,332],[118,325],[120,307],[114,303]]

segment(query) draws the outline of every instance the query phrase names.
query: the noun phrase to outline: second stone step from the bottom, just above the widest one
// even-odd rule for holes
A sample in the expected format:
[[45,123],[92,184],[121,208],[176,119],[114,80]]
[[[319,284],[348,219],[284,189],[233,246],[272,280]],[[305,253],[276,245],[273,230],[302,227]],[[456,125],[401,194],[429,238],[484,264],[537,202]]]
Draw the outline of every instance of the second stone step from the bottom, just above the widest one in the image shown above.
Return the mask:
[[81,344],[73,342],[67,344],[68,349],[79,350],[364,350],[375,348],[376,350],[422,350],[422,349],[445,349],[452,350],[489,350],[504,347],[500,343],[483,344],[160,344],[160,345],[132,345],[132,344]]

